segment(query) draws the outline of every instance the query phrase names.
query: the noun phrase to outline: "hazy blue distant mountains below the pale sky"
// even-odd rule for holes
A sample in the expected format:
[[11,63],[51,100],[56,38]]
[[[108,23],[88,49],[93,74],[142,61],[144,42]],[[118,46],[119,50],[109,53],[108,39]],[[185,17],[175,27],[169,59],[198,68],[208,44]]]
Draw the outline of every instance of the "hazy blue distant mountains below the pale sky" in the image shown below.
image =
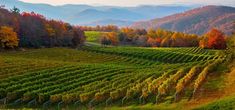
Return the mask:
[[[62,5],[31,4],[18,0],[0,0],[1,5],[10,9],[16,6],[22,11],[40,13],[47,18],[63,20],[72,24],[87,25],[104,22],[116,25],[129,25],[130,22],[160,18],[175,13],[184,12],[196,6],[89,6],[89,5]],[[108,20],[108,21],[105,21]],[[102,21],[102,22],[101,22]],[[100,22],[100,23],[99,23]]]

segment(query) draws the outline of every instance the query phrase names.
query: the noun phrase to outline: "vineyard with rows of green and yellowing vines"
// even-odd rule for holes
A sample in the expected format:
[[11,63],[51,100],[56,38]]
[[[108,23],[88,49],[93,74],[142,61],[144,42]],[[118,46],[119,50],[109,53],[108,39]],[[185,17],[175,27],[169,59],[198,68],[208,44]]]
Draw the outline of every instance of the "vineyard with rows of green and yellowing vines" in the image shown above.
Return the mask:
[[191,99],[220,50],[83,47],[0,53],[0,107],[85,107]]

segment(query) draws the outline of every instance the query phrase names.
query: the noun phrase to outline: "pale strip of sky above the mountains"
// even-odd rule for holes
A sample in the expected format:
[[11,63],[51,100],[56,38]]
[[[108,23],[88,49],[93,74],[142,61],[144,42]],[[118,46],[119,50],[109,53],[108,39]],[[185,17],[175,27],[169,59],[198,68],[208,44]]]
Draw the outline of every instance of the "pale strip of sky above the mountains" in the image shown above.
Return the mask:
[[137,6],[137,5],[163,5],[163,4],[202,4],[227,5],[235,7],[235,0],[20,0],[29,3],[46,3],[51,5],[87,4],[108,6]]

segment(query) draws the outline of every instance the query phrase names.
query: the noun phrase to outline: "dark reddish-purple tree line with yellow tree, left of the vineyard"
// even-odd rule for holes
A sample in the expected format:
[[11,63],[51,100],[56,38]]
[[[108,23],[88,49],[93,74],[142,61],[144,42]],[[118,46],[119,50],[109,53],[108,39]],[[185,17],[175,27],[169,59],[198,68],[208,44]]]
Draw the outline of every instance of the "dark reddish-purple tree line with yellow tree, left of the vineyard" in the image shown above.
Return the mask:
[[78,26],[31,12],[20,13],[18,8],[0,8],[0,48],[55,47],[83,45],[84,32]]

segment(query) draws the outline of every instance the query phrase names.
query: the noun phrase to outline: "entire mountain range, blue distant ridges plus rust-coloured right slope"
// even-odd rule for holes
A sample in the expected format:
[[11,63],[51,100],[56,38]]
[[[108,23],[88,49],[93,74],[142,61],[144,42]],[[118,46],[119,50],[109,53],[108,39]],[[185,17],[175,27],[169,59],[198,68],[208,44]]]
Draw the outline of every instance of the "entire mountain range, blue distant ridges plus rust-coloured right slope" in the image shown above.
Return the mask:
[[21,12],[36,12],[49,19],[62,20],[73,25],[129,26],[138,29],[162,28],[192,34],[204,34],[218,28],[226,34],[234,30],[235,8],[200,5],[142,5],[136,7],[32,4],[18,0],[0,0],[7,9],[14,6]]

